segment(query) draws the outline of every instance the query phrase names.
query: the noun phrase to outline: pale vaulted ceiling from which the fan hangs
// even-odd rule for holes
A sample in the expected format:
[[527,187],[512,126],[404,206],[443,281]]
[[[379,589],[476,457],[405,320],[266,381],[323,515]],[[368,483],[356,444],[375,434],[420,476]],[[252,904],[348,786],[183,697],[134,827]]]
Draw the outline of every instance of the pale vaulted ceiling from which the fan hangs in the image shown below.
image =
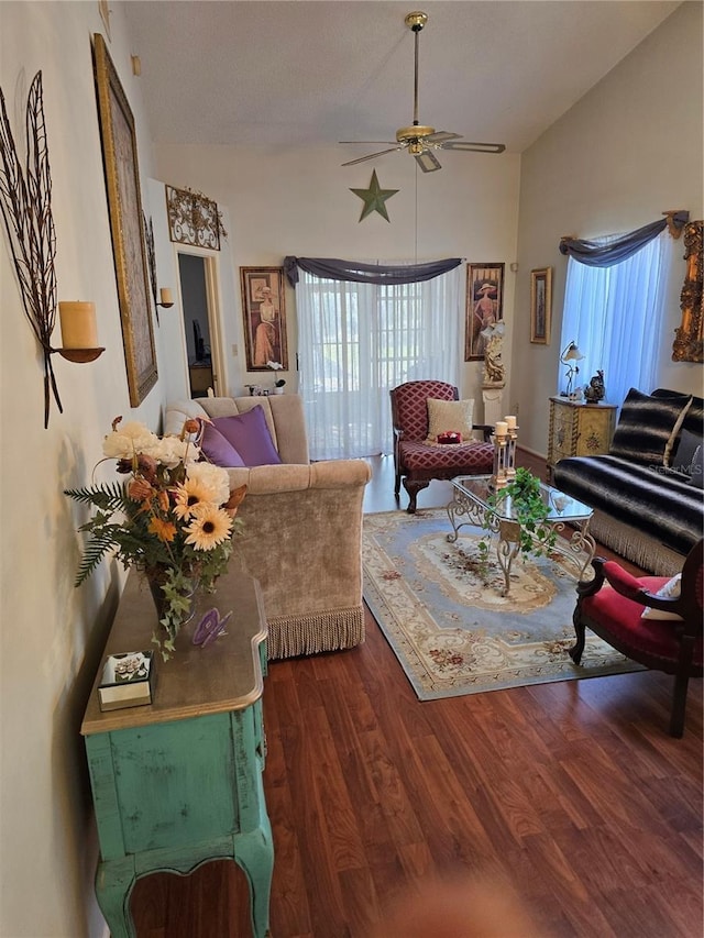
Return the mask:
[[[157,143],[289,147],[393,141],[419,119],[520,152],[679,2],[483,0],[125,3]],[[376,147],[382,148],[382,147]],[[340,146],[341,161],[374,147]]]

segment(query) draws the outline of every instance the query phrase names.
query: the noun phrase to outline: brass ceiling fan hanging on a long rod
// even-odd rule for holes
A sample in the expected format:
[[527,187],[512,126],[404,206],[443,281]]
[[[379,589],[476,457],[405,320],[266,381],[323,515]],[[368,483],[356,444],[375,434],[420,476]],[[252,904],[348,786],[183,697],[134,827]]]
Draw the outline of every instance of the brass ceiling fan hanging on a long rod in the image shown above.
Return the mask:
[[387,153],[395,153],[399,150],[407,150],[408,153],[416,157],[416,163],[420,166],[424,173],[435,173],[436,169],[441,169],[441,165],[435,155],[437,150],[462,150],[471,153],[503,153],[506,147],[503,143],[472,143],[462,140],[462,134],[448,133],[448,131],[436,131],[435,128],[425,126],[418,123],[418,36],[420,31],[428,22],[428,14],[421,12],[409,13],[404,22],[415,35],[415,74],[414,74],[414,123],[409,128],[399,128],[396,131],[396,142],[386,140],[341,140],[340,143],[386,143],[389,144],[388,150],[381,150],[378,153],[370,153],[367,156],[360,156],[358,159],[350,159],[343,163],[343,166],[354,166],[355,163],[364,163],[366,159],[375,159],[377,156],[384,156]]

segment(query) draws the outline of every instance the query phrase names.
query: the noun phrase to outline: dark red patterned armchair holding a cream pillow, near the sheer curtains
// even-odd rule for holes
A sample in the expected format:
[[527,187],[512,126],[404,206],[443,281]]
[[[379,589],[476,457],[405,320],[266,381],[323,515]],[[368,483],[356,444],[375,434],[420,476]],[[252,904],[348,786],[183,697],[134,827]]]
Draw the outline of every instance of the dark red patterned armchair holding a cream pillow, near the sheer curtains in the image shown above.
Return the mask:
[[[400,482],[408,493],[408,512],[416,510],[416,499],[421,488],[433,478],[454,478],[458,475],[483,475],[492,472],[494,446],[488,442],[492,427],[473,423],[483,431],[484,440],[470,440],[448,445],[430,444],[428,438],[428,398],[458,400],[458,389],[446,382],[406,382],[389,391],[394,422],[395,495]],[[455,427],[443,427],[455,430]]]

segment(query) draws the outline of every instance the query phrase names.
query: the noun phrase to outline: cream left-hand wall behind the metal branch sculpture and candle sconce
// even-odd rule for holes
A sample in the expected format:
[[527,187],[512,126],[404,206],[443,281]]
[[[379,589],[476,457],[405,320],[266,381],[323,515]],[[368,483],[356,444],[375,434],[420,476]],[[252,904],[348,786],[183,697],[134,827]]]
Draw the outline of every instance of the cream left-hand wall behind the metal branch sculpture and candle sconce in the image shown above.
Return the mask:
[[[114,5],[114,4],[111,4]],[[42,70],[56,225],[59,299],[94,300],[106,352],[92,364],[53,356],[64,405],[43,427],[38,346],[0,234],[0,934],[102,935],[94,876],[97,839],[80,722],[121,588],[106,564],[75,589],[80,523],[63,489],[86,484],[117,415],[155,426],[157,385],[130,408],[91,62],[105,34],[98,3],[0,3],[0,86],[15,142]],[[119,11],[110,55],[134,112],[142,189],[153,175],[139,80]],[[58,323],[53,336],[61,345]]]

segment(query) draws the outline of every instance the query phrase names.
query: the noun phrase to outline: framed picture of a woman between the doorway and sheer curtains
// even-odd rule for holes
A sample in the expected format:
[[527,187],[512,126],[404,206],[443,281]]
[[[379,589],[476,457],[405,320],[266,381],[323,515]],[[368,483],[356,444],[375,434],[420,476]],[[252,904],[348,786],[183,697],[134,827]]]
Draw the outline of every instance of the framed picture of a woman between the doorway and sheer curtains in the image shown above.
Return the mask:
[[240,267],[246,371],[268,371],[267,362],[288,369],[286,297],[283,267]]

